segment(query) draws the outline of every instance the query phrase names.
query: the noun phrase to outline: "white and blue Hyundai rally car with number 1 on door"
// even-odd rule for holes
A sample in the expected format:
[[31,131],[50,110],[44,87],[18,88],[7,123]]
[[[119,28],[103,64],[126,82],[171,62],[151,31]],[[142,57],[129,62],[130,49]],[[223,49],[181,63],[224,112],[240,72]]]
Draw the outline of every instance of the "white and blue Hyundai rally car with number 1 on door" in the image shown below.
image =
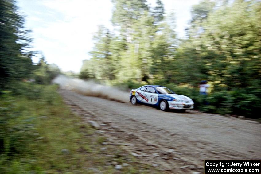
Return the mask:
[[185,95],[175,94],[172,90],[164,86],[145,85],[138,89],[130,91],[130,102],[135,105],[137,103],[146,103],[153,106],[159,106],[161,110],[193,109],[194,102]]

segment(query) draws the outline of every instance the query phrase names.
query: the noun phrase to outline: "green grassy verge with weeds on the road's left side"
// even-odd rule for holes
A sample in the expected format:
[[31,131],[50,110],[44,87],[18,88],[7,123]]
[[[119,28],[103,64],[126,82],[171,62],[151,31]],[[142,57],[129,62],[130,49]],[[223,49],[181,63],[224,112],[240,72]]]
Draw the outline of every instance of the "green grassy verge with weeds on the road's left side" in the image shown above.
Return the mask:
[[[21,83],[0,96],[1,173],[159,173],[120,146],[103,145],[106,138],[71,112],[57,87]],[[123,163],[129,166],[115,169]]]

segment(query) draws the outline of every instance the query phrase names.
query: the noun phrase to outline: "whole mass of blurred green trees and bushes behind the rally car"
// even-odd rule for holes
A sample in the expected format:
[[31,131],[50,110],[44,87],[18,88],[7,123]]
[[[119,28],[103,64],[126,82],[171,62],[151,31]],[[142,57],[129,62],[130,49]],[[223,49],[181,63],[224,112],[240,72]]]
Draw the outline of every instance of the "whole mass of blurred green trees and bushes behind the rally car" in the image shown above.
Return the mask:
[[[260,118],[260,1],[201,1],[191,10],[186,39],[177,38],[175,14],[164,15],[160,0],[155,7],[112,2],[116,27],[99,27],[81,79],[128,88],[165,85],[192,98],[195,109]],[[208,96],[199,95],[201,80],[211,86]]]

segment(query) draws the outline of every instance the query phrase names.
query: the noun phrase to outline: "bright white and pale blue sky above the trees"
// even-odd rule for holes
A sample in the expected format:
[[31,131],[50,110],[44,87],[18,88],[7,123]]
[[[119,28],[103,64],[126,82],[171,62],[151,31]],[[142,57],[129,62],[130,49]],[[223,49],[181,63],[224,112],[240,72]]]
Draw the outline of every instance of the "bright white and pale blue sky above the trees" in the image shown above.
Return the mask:
[[[155,2],[148,0],[152,6]],[[184,37],[191,6],[199,0],[162,2],[167,14],[176,13],[178,37]],[[33,30],[33,49],[42,51],[49,64],[57,64],[63,71],[79,72],[82,61],[90,58],[98,25],[112,29],[111,0],[17,0],[17,5],[26,16],[25,27]]]

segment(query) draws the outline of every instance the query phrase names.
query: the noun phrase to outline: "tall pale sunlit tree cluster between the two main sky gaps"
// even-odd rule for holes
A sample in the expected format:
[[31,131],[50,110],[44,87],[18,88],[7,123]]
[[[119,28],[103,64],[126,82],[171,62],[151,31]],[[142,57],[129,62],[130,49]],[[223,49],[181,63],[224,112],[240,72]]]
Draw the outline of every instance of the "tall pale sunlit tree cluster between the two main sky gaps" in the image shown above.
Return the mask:
[[171,70],[170,62],[177,46],[174,14],[165,19],[160,0],[155,8],[147,6],[145,0],[114,0],[113,3],[112,22],[117,26],[115,33],[119,34],[99,27],[90,52],[92,57],[84,61],[81,77],[88,74],[103,81],[153,82],[169,74],[171,79],[171,71],[167,70]]

